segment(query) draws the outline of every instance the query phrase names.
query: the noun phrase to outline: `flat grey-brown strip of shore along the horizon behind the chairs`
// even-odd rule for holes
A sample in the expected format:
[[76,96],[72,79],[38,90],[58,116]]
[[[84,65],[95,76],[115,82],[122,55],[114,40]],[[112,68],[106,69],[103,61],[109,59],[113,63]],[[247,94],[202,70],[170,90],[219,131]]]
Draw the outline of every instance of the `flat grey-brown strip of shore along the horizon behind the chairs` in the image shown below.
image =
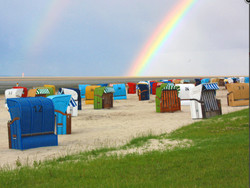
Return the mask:
[[45,84],[55,85],[55,87],[78,88],[79,84],[103,84],[103,83],[137,83],[142,80],[172,80],[184,79],[194,83],[195,78],[224,78],[225,76],[156,76],[156,77],[125,77],[125,76],[99,76],[99,77],[0,77],[0,94],[4,94],[6,89],[10,89],[19,84],[19,86],[31,89],[33,87],[43,86]]

